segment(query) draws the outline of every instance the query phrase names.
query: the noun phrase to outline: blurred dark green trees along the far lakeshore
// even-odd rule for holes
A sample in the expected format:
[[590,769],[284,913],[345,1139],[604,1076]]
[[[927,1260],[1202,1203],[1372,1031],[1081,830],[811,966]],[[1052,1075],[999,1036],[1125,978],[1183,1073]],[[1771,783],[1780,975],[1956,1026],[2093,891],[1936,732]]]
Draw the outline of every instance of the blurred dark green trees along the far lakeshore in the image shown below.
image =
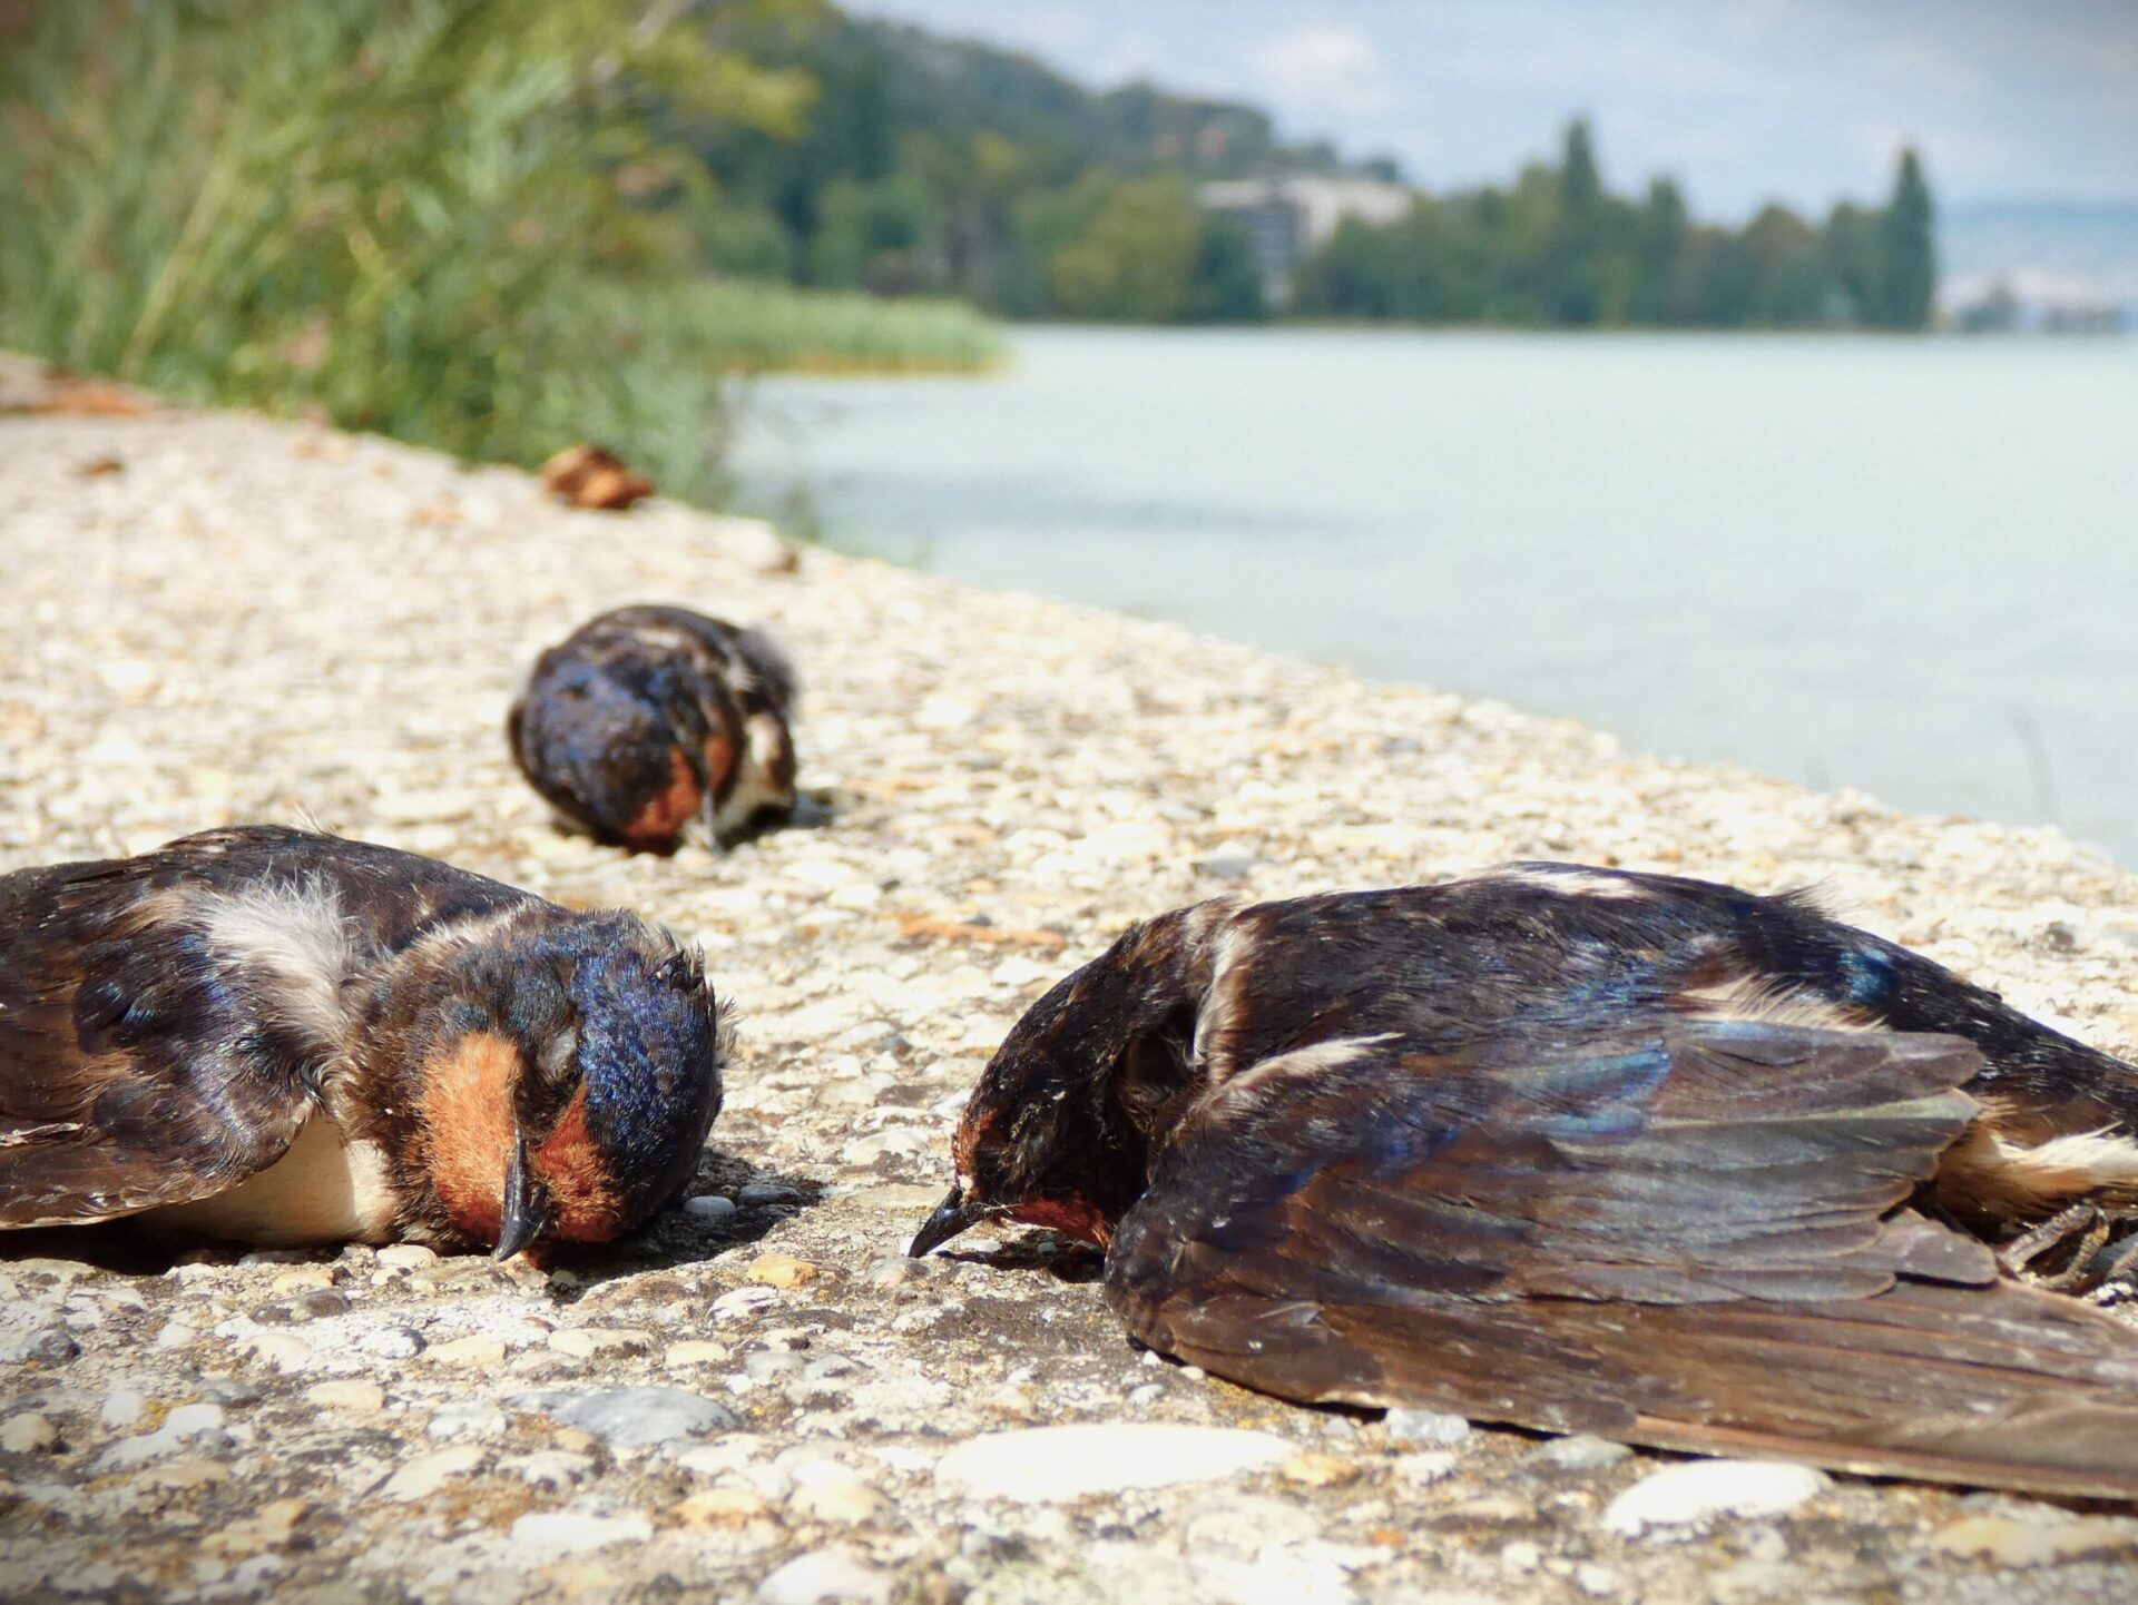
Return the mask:
[[[1197,184],[1366,173],[1285,143],[1244,105],[1150,85],[1090,92],[1037,62],[832,13],[731,26],[768,68],[804,73],[800,135],[725,124],[697,139],[718,192],[699,212],[714,271],[881,295],[958,295],[1009,318],[1135,323],[1270,316],[1244,229]],[[1822,222],[1768,205],[1698,222],[1668,180],[1604,188],[1584,122],[1556,162],[1505,186],[1420,192],[1311,252],[1293,314],[1531,327],[1875,327],[1931,318],[1933,201],[1905,152],[1884,207]]]

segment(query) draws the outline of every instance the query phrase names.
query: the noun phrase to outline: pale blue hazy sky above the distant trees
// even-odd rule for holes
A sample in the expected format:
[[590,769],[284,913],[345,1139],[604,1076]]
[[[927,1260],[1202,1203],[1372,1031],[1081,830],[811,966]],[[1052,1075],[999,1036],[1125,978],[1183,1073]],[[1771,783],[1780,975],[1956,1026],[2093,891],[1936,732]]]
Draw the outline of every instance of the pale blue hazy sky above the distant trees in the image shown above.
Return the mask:
[[1086,83],[1251,100],[1287,137],[1505,180],[1591,118],[1621,190],[1742,218],[1879,199],[2138,199],[2138,0],[842,0]]

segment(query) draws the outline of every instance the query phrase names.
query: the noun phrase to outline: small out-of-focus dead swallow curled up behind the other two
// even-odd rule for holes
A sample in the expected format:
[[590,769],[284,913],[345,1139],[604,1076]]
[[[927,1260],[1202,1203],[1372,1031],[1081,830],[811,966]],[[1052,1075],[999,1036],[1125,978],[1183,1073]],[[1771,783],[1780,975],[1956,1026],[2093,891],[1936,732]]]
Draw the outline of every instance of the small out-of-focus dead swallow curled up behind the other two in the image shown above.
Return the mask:
[[541,654],[507,718],[528,784],[605,842],[727,844],[795,806],[795,673],[761,630],[618,607]]

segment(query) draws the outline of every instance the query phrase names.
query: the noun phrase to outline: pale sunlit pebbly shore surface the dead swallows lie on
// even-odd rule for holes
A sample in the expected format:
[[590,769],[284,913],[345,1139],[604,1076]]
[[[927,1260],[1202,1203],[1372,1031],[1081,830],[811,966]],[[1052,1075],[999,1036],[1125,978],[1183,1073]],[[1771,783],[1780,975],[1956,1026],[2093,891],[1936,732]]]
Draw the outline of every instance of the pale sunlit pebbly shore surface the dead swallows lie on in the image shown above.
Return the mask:
[[[740,1015],[697,1197],[552,1274],[0,1240],[0,1596],[2132,1599],[2138,1520],[1276,1404],[1140,1355],[1045,1233],[907,1261],[979,1066],[1127,921],[1569,857],[1824,883],[2138,1051],[2138,876],[663,502],[222,415],[0,417],[0,870],[321,825],[626,904]],[[676,601],[804,675],[821,821],[556,831],[534,654]],[[1073,1428],[1071,1432],[1052,1432]],[[1043,1432],[1043,1436],[1022,1436]]]

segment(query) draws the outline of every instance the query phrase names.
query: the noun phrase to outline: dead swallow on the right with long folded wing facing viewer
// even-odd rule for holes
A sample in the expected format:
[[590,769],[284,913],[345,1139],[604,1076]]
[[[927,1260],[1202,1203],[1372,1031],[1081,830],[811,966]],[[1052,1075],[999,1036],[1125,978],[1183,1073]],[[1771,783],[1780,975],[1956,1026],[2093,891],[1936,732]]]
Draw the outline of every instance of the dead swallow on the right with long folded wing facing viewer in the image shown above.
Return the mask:
[[1986,1242],[2127,1205],[2134,1113],[1800,895],[1529,863],[1129,930],[913,1252],[1071,1233],[1137,1340],[1291,1400],[2138,1498],[2138,1331]]

